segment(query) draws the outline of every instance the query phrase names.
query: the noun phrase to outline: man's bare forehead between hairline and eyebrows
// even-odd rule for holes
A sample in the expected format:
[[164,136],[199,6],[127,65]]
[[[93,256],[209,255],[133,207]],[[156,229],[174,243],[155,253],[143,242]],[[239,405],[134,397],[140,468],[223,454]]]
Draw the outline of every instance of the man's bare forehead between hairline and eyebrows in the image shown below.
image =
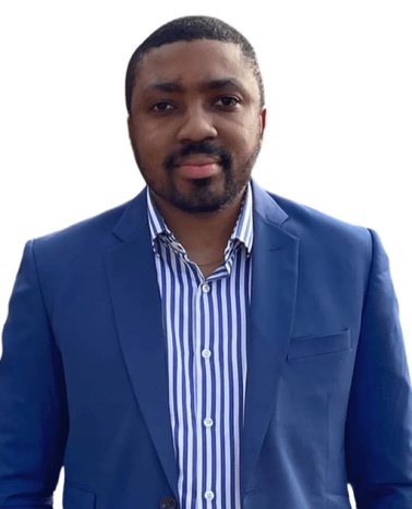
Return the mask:
[[235,80],[258,96],[252,64],[239,45],[220,40],[177,41],[150,49],[136,68],[135,87],[143,92],[154,83],[191,86],[213,80]]

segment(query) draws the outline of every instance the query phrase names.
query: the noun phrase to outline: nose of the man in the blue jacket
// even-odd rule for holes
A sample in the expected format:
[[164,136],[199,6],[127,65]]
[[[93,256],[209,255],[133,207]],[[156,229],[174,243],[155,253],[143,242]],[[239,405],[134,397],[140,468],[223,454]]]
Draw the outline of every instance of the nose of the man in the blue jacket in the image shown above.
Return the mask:
[[202,142],[216,138],[214,116],[201,105],[186,108],[182,114],[178,138],[180,142]]

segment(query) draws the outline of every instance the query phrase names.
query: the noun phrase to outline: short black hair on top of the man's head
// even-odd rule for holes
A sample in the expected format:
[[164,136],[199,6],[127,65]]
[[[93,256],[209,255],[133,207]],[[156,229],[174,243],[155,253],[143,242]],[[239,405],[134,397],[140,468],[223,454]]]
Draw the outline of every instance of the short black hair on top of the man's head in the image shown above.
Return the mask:
[[125,102],[129,114],[132,109],[132,96],[136,78],[136,69],[142,58],[150,49],[178,43],[179,40],[220,40],[240,46],[243,56],[251,64],[251,70],[256,77],[260,94],[260,105],[265,104],[265,90],[260,69],[255,50],[251,43],[240,32],[221,20],[211,16],[184,16],[166,23],[150,34],[132,54],[125,76]]

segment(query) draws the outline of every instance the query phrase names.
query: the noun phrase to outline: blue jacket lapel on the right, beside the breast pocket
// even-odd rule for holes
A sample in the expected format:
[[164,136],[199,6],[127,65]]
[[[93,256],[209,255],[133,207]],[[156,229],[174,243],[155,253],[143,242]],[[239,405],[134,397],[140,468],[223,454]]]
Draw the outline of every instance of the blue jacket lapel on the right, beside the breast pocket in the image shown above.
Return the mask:
[[298,284],[299,240],[281,225],[286,213],[256,184],[247,381],[241,450],[242,496],[272,415],[288,351]]

